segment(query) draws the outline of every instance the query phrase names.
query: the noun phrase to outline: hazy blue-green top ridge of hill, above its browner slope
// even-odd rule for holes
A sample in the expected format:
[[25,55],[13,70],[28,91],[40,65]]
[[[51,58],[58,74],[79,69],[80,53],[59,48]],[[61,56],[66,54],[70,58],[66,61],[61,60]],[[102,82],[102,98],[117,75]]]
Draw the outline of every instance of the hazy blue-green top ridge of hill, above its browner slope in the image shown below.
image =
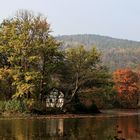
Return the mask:
[[140,42],[127,40],[127,39],[116,39],[108,36],[101,36],[95,34],[77,34],[77,35],[62,35],[57,36],[57,39],[64,41],[65,43],[80,43],[87,47],[96,45],[98,48],[106,47],[140,47]]

